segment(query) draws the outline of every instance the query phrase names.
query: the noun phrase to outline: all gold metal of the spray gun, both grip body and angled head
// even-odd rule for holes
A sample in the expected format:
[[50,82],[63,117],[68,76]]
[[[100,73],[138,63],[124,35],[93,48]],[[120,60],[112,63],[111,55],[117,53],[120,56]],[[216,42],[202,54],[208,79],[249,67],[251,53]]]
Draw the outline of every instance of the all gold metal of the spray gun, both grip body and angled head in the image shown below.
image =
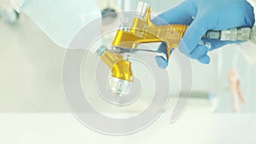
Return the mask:
[[[113,40],[113,46],[137,49],[140,43],[156,43],[163,42],[167,45],[167,54],[171,50],[177,48],[178,43],[186,32],[188,26],[184,25],[168,25],[156,26],[150,18],[151,8],[148,9],[145,19],[134,18],[131,31],[119,30]],[[170,55],[167,55],[169,59]],[[111,76],[114,78],[133,81],[133,73],[131,71],[131,62],[125,60],[123,55],[119,55],[107,50],[102,55],[102,60],[111,69]]]

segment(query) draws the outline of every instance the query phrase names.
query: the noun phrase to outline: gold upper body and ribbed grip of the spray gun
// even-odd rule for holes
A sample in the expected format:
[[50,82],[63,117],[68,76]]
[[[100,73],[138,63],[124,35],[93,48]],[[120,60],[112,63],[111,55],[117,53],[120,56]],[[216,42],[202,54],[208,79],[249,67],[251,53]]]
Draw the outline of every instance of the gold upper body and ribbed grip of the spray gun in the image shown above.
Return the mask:
[[[150,18],[151,8],[148,9],[145,20],[134,18],[131,31],[119,30],[113,40],[113,46],[136,49],[140,43],[163,42],[167,45],[167,54],[177,48],[188,26],[166,25],[156,26]],[[167,55],[169,59],[170,55]]]

